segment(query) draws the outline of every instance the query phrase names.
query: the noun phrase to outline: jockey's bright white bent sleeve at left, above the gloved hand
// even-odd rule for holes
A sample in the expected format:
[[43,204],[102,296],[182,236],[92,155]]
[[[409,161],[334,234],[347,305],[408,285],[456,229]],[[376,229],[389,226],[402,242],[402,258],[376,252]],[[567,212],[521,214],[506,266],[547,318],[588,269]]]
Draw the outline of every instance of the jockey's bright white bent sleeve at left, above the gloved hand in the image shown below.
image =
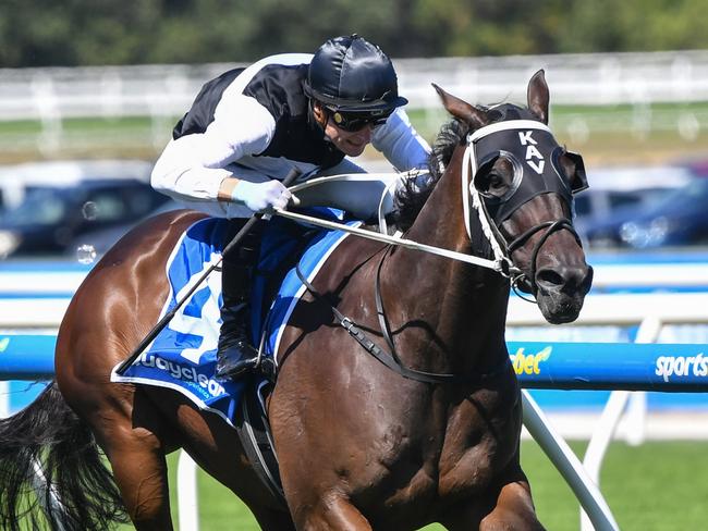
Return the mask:
[[152,187],[187,203],[217,201],[221,182],[232,175],[225,166],[265,150],[274,129],[273,118],[254,98],[224,98],[204,133],[167,145],[152,170]]

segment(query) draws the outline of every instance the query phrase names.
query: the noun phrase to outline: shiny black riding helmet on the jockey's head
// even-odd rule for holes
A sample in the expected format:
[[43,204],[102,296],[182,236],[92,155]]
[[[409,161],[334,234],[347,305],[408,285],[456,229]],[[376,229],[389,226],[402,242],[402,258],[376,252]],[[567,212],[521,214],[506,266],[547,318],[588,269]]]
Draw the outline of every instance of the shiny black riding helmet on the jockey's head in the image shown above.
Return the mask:
[[319,47],[309,63],[305,94],[331,110],[369,115],[390,114],[408,102],[399,96],[391,60],[356,34]]

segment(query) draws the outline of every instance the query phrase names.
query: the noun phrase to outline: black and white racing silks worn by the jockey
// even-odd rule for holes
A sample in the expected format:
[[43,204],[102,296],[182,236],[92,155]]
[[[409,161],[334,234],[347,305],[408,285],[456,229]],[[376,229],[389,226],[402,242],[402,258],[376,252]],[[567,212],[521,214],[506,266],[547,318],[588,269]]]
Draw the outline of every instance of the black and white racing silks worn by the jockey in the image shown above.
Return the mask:
[[[210,215],[243,218],[253,212],[217,200],[225,177],[282,181],[293,169],[362,173],[310,118],[303,82],[312,57],[272,55],[205,85],[158,159],[152,186]],[[429,152],[402,109],[374,131],[371,145],[399,171],[424,168]]]

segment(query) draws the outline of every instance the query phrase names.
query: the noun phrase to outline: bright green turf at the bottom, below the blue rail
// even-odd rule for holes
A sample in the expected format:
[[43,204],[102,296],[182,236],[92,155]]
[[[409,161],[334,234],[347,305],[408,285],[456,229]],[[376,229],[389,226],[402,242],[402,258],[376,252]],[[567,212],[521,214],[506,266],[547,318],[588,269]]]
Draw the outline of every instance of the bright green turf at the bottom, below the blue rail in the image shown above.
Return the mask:
[[[582,453],[585,443],[571,446]],[[613,443],[600,482],[620,528],[623,531],[708,529],[707,448],[705,442],[650,442],[638,447]],[[522,460],[546,528],[577,530],[578,503],[540,448],[533,442],[524,442]],[[172,480],[174,462],[171,456]],[[258,529],[243,504],[203,472],[199,473],[199,514],[203,531]],[[131,528],[124,527],[122,531],[127,529]],[[440,526],[425,528],[426,531],[442,529]]]

